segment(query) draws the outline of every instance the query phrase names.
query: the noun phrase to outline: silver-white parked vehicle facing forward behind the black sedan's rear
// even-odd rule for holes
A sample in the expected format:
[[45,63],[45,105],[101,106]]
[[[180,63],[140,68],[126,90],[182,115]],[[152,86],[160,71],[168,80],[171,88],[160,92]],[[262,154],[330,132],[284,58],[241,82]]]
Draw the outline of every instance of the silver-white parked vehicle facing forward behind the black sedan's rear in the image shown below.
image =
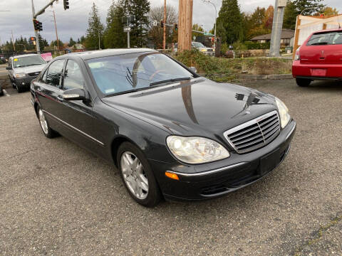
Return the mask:
[[28,89],[31,81],[45,67],[46,61],[38,54],[16,55],[9,58],[9,79],[18,92]]

